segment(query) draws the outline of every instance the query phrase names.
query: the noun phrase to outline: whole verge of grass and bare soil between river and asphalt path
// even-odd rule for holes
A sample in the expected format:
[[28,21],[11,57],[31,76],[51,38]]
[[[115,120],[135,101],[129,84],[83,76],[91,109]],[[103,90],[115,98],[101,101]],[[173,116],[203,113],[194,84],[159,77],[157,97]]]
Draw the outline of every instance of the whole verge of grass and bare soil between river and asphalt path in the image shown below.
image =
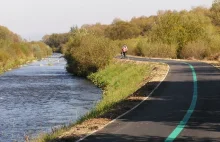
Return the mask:
[[140,103],[161,81],[167,70],[168,67],[164,64],[123,60],[91,74],[88,78],[103,89],[102,100],[77,123],[53,130],[34,142],[75,141],[104,127]]

